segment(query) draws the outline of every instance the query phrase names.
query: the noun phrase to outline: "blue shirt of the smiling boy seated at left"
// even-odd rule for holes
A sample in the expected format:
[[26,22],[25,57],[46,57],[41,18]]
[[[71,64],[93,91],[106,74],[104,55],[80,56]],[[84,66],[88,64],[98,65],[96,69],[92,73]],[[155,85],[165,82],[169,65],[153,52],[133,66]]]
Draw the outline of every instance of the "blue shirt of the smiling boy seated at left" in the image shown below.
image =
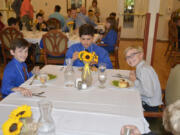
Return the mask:
[[3,97],[8,96],[12,93],[12,88],[19,87],[22,83],[25,82],[25,75],[23,67],[26,69],[27,79],[29,79],[33,74],[28,73],[27,65],[25,62],[20,63],[18,60],[13,58],[5,67],[1,92]]

